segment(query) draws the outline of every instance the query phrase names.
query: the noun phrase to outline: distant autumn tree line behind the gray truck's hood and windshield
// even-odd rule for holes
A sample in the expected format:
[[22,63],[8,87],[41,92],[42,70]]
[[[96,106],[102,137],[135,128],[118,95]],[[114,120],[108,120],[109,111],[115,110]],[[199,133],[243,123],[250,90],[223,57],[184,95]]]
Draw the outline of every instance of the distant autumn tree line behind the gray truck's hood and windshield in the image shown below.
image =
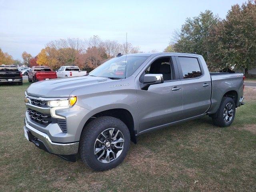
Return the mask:
[[99,36],[93,36],[86,40],[79,38],[54,40],[48,42],[36,57],[23,52],[22,58],[30,67],[47,65],[56,70],[63,65],[75,65],[82,70],[90,71],[118,53],[138,52],[140,47],[131,43],[119,44],[114,40],[103,41]]

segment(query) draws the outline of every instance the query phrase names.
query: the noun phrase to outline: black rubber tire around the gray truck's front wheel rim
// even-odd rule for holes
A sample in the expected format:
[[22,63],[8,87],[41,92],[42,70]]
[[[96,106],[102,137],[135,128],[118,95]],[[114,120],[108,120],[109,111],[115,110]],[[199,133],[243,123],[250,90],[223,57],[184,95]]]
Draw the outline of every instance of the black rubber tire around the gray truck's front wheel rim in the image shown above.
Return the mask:
[[[116,128],[120,130],[124,136],[124,146],[121,154],[112,162],[100,162],[94,154],[94,144],[101,132],[108,128]],[[82,131],[79,142],[78,152],[82,162],[87,164],[90,168],[96,171],[103,171],[112,169],[118,166],[126,157],[130,148],[130,132],[121,120],[110,117],[102,116],[92,120]]]

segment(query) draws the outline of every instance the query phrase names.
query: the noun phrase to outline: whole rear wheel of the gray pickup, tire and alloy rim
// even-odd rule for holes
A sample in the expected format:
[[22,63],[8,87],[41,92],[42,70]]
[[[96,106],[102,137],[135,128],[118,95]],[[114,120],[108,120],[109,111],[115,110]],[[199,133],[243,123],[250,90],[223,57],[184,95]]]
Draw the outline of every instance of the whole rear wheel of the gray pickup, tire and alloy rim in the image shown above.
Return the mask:
[[230,126],[235,118],[236,104],[230,97],[223,97],[218,111],[212,115],[213,124],[219,127]]

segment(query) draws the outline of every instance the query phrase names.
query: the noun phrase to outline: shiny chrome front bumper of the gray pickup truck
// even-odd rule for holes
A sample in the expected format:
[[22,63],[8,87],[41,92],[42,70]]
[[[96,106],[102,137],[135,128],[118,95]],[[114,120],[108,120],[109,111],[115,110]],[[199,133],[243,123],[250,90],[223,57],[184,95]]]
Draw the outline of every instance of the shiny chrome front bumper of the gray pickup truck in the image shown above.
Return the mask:
[[36,139],[29,138],[30,142],[33,142],[34,144],[36,144],[37,140],[39,142],[42,142],[46,148],[45,150],[49,153],[57,154],[57,155],[72,155],[72,154],[77,154],[77,152],[78,152],[79,142],[74,142],[74,143],[52,142],[47,134],[40,132],[37,129],[33,128],[32,126],[30,126],[29,124],[26,123],[26,120],[25,120],[24,130],[30,131],[32,136],[34,136],[36,138]]

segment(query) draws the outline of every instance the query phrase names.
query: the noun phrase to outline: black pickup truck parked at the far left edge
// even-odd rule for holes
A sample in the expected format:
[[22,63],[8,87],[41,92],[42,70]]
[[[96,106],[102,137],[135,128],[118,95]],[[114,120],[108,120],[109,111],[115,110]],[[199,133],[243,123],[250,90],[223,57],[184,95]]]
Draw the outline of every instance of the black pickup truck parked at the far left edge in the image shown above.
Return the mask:
[[22,74],[14,65],[0,65],[0,83],[16,82],[22,85]]

